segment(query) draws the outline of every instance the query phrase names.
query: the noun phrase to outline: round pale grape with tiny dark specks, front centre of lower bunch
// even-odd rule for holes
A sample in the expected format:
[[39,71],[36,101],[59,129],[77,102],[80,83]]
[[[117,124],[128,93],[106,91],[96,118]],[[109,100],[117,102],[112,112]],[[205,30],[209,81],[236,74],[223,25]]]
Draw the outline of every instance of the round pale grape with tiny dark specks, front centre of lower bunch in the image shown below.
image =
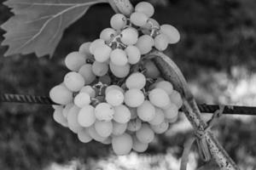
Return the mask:
[[96,105],[95,116],[99,121],[111,121],[113,119],[114,109],[108,103]]

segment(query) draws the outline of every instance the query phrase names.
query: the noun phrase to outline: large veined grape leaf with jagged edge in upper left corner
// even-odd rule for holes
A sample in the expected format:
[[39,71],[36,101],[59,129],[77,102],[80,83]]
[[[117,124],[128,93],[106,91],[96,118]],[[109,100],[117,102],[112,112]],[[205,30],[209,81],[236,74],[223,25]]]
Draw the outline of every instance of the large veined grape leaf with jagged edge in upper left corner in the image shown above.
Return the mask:
[[15,15],[1,26],[7,31],[2,45],[9,45],[4,55],[51,56],[63,31],[95,3],[107,0],[8,0],[3,4]]

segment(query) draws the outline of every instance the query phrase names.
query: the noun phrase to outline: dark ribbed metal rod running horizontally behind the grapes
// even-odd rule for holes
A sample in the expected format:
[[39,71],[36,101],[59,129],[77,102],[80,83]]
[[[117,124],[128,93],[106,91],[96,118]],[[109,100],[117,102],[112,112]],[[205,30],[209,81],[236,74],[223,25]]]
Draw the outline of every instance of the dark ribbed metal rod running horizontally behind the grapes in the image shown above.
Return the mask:
[[[0,94],[0,103],[27,103],[27,104],[40,104],[40,105],[58,105],[55,104],[48,96],[34,96],[24,94]],[[214,113],[219,109],[219,105],[198,105],[203,113]],[[239,106],[239,105],[225,105],[224,114],[230,115],[252,115],[256,116],[256,107]]]

